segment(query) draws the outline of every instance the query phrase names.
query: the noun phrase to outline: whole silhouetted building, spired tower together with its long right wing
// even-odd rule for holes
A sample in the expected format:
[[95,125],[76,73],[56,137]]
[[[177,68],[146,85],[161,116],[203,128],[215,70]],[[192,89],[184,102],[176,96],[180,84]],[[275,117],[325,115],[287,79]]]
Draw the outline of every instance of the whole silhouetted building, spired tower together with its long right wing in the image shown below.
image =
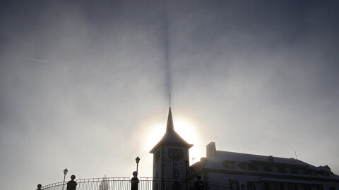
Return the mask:
[[[184,161],[189,160],[191,146],[174,131],[169,108],[165,135],[150,151],[153,177],[185,179]],[[206,158],[189,167],[189,179],[198,175],[205,184],[228,184],[230,190],[339,190],[339,176],[327,165],[315,167],[294,158],[217,151],[214,142],[206,146]],[[158,186],[153,189],[160,189]]]

